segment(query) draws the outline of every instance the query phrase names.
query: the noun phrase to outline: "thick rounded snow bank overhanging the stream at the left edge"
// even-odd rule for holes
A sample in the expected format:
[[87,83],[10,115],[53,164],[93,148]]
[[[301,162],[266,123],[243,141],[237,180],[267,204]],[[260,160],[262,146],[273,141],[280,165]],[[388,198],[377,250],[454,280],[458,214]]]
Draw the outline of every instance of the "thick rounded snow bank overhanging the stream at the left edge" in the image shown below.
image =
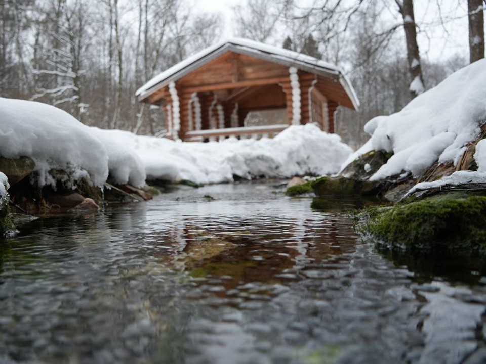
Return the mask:
[[55,184],[51,169],[71,172],[73,181],[89,174],[95,186],[108,173],[116,183],[143,185],[138,156],[104,135],[53,106],[0,98],[0,155],[32,158],[40,186]]

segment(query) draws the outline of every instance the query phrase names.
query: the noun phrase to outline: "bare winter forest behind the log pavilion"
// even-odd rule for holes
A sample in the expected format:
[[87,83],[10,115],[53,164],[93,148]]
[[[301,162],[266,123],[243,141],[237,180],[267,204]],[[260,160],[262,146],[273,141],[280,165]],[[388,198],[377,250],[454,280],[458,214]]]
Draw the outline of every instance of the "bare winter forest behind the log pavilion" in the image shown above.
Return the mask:
[[[413,0],[247,0],[230,16],[190,0],[0,0],[0,96],[55,105],[90,126],[163,135],[163,112],[139,103],[136,89],[232,31],[342,67],[361,106],[340,108],[337,133],[357,148],[369,138],[368,120],[416,96],[414,59],[424,89],[473,60],[464,48],[435,58],[418,57],[417,49],[412,57],[407,26],[428,49],[451,38],[484,57],[484,23],[482,51],[480,37],[447,25],[483,19],[486,1],[420,3],[411,22],[406,8],[413,10]],[[471,24],[461,24],[470,33]]]

